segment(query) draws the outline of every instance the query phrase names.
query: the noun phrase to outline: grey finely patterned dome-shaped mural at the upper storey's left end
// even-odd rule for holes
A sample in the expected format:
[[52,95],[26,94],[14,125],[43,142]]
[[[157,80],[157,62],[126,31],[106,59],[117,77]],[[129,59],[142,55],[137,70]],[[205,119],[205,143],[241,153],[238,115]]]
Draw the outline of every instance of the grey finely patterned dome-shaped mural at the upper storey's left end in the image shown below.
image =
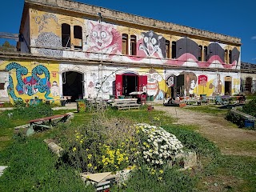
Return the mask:
[[35,45],[38,47],[46,47],[46,49],[38,48],[37,50],[39,54],[50,57],[62,57],[63,51],[58,50],[58,48],[62,48],[62,38],[52,32],[43,32],[42,34],[39,34],[38,38],[35,39]]

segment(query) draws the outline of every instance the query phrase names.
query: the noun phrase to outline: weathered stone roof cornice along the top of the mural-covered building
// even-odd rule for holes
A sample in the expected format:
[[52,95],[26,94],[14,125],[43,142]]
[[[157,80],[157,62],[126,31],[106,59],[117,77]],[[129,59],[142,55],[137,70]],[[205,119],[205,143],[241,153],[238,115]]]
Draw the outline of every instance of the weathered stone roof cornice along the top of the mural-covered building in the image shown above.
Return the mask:
[[56,9],[62,11],[73,12],[81,16],[89,16],[90,18],[98,18],[98,13],[102,15],[104,20],[118,23],[129,24],[138,27],[150,28],[162,33],[174,33],[187,37],[198,37],[215,42],[229,43],[235,46],[241,46],[241,38],[231,37],[225,34],[218,34],[207,30],[198,30],[189,26],[182,26],[171,22],[162,22],[153,18],[146,18],[134,14],[127,14],[117,10],[110,10],[100,6],[91,6],[81,2],[70,0],[25,0],[25,6],[22,14],[22,25],[26,18],[26,11],[29,6],[36,6],[38,9],[45,7],[49,10]]

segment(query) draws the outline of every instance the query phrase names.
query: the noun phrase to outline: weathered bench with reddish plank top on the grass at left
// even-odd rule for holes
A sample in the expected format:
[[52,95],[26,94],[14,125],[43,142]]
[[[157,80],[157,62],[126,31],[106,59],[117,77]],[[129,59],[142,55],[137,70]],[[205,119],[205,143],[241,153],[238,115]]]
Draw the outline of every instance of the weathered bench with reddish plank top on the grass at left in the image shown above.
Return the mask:
[[52,126],[56,125],[57,122],[54,120],[60,119],[58,122],[61,122],[63,119],[66,119],[70,114],[55,114],[46,118],[36,118],[28,121],[30,123],[29,129],[26,131],[26,136],[34,134],[34,127],[50,129]]

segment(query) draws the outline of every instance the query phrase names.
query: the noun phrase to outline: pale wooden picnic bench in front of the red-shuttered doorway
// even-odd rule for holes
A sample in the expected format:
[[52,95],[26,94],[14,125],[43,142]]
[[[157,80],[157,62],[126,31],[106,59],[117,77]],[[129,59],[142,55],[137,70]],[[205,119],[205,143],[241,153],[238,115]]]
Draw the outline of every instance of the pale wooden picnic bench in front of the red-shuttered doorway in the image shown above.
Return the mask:
[[111,106],[117,108],[118,110],[130,110],[130,109],[138,109],[141,104],[137,103],[137,98],[122,98],[122,99],[114,99],[114,102],[111,103]]

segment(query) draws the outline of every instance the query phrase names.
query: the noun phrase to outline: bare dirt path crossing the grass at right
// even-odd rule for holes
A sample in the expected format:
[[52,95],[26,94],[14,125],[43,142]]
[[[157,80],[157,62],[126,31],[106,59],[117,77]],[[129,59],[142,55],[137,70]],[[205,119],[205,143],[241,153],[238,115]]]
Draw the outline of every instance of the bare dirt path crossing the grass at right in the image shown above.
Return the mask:
[[199,113],[186,107],[154,106],[154,109],[166,111],[171,117],[177,118],[174,123],[198,126],[198,132],[216,143],[222,154],[256,157],[255,130],[239,129],[221,114]]

